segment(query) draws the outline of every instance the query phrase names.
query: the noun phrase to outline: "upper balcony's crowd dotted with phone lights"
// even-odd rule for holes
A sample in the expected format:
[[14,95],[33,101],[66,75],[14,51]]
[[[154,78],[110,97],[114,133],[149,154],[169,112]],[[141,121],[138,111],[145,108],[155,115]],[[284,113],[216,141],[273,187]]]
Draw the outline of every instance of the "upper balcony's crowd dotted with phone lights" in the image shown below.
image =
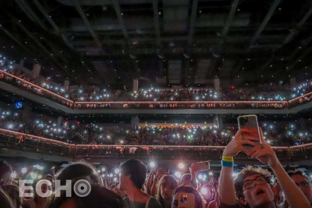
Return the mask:
[[[280,86],[261,86],[257,89],[223,89],[217,91],[215,89],[203,88],[181,88],[181,89],[139,89],[130,93],[120,89],[100,89],[98,86],[78,86],[72,85],[66,88],[54,83],[50,77],[33,77],[24,73],[19,65],[5,59],[0,55],[1,69],[15,75],[22,80],[17,80],[9,75],[0,73],[0,78],[15,85],[25,87],[38,94],[50,97],[51,99],[71,106],[55,95],[46,93],[43,89],[49,90],[66,99],[74,102],[109,102],[109,101],[285,101],[296,98],[312,91],[311,82],[305,82],[297,87],[289,88]],[[27,83],[27,82],[29,83]],[[32,85],[33,84],[33,85]],[[37,85],[41,88],[38,88]],[[302,100],[303,102],[304,100]],[[302,103],[300,102],[300,103]],[[107,106],[106,106],[107,107]]]

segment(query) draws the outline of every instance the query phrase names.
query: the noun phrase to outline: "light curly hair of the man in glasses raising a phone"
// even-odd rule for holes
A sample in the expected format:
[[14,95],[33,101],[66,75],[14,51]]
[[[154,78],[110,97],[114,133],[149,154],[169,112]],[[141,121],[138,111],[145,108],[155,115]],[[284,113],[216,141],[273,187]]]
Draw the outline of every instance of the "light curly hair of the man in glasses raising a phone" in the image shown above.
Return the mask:
[[268,170],[263,169],[261,167],[253,167],[248,166],[246,168],[243,168],[241,172],[237,174],[237,177],[234,180],[234,187],[235,187],[235,194],[237,199],[240,199],[243,196],[243,181],[247,176],[260,174],[264,179],[270,184],[270,186],[273,186],[273,182],[275,181],[275,177],[273,174],[271,174]]

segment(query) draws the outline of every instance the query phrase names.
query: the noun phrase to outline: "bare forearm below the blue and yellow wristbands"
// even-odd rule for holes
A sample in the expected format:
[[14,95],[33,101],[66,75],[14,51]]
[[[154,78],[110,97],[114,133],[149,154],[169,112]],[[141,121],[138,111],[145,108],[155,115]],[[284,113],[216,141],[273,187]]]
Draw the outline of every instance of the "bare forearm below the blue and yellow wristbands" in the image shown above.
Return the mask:
[[226,205],[236,204],[234,189],[233,167],[222,167],[219,180],[219,196],[222,203]]

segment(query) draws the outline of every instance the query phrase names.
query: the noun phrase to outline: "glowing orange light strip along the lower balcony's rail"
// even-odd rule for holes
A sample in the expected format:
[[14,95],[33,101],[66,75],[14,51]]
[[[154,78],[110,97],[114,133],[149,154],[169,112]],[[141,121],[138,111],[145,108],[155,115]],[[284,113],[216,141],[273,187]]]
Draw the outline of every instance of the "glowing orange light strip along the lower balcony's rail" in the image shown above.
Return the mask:
[[[102,145],[102,144],[70,144],[70,143],[66,143],[66,142],[61,142],[61,141],[57,141],[54,139],[49,139],[49,138],[44,138],[44,137],[38,137],[35,135],[31,135],[31,134],[25,134],[25,133],[20,133],[20,132],[16,132],[16,131],[11,131],[11,130],[7,130],[7,129],[3,129],[0,128],[0,131],[4,131],[4,132],[8,132],[8,133],[16,133],[16,134],[22,134],[25,136],[29,136],[29,137],[36,137],[39,139],[44,139],[44,140],[49,140],[49,141],[53,141],[56,143],[62,143],[62,144],[66,144],[66,145],[71,145],[71,146],[75,146],[77,147],[94,147],[97,146],[98,148],[101,147],[148,147],[148,148],[154,148],[154,147],[160,147],[160,148],[225,148],[226,146],[176,146],[176,145]],[[297,146],[291,146],[290,148],[298,148],[301,146],[312,146],[312,143],[309,144],[302,144],[302,145],[297,145]],[[288,147],[272,147],[273,149],[288,149]]]

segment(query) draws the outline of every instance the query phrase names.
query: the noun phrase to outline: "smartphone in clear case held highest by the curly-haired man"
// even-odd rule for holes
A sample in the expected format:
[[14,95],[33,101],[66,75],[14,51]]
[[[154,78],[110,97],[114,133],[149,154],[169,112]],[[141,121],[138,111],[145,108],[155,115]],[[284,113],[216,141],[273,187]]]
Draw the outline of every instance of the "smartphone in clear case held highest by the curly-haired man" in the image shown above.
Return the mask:
[[[256,115],[244,115],[239,116],[237,118],[238,120],[238,128],[243,128],[250,130],[250,133],[242,133],[242,137],[244,139],[244,136],[250,136],[253,137],[252,142],[255,144],[261,144],[260,139],[260,132],[259,132],[259,125],[258,125],[258,119]],[[251,145],[243,145],[246,149],[252,149],[253,146]]]

